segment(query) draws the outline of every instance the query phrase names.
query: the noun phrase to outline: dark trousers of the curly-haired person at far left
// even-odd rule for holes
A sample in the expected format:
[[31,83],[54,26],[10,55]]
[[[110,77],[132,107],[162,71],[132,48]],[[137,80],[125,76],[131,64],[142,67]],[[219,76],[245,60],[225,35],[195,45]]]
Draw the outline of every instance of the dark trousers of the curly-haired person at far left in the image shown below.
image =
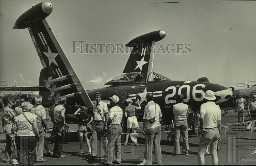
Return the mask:
[[15,145],[15,140],[14,137],[10,138],[10,134],[5,135],[6,139],[6,145],[5,145],[5,160],[14,160],[17,157],[17,152],[16,152],[16,145]]

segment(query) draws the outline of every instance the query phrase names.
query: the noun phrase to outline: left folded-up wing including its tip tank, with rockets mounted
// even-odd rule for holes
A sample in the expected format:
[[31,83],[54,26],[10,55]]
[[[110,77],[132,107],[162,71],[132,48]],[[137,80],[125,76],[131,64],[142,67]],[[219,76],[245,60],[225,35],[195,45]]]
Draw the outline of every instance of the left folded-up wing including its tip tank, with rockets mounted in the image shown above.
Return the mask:
[[91,99],[45,19],[51,11],[51,3],[41,2],[23,13],[16,20],[14,29],[28,28],[55,104],[58,104],[60,97],[65,96],[67,106],[78,103],[90,108],[93,106]]

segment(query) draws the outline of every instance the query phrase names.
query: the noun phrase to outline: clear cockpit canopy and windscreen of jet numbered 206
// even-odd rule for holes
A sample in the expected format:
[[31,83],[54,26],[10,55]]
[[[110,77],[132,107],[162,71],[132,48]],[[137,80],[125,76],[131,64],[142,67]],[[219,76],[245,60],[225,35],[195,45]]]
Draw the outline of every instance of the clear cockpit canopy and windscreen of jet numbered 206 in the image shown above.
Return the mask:
[[[170,79],[155,72],[148,74],[147,82],[163,81],[163,80],[170,80]],[[124,73],[110,80],[109,82],[105,83],[105,85],[119,84],[119,83],[122,83],[122,84],[146,83],[146,77],[143,73],[140,73],[140,72]]]

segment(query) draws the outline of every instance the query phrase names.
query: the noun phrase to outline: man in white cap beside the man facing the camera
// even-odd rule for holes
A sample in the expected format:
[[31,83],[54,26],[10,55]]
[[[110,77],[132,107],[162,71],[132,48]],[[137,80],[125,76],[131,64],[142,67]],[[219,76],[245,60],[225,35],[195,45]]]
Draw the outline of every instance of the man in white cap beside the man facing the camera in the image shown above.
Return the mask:
[[[121,122],[123,119],[123,110],[118,106],[119,97],[114,95],[109,97],[110,101],[110,111],[108,126],[110,134],[108,135],[108,151],[107,151],[107,162],[105,164],[112,165],[121,163],[121,135],[122,127]],[[115,147],[115,156],[113,158]],[[114,161],[113,161],[114,160]]]

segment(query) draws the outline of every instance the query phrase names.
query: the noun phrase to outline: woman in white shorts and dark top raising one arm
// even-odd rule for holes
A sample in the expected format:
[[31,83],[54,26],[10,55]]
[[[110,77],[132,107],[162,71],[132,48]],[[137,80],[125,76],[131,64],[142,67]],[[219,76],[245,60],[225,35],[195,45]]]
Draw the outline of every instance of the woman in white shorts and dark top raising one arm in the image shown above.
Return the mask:
[[[127,118],[127,129],[126,129],[126,137],[125,137],[125,142],[124,142],[124,146],[127,146],[127,142],[128,142],[128,137],[129,137],[129,133],[131,128],[133,128],[133,133],[136,134],[136,129],[138,127],[138,121],[137,118],[135,116],[135,109],[141,109],[141,105],[140,105],[140,100],[137,99],[136,103],[138,104],[138,107],[135,105],[132,105],[132,99],[128,98],[125,101],[128,106],[125,107],[125,117]],[[136,140],[135,145],[138,146],[138,142]]]

